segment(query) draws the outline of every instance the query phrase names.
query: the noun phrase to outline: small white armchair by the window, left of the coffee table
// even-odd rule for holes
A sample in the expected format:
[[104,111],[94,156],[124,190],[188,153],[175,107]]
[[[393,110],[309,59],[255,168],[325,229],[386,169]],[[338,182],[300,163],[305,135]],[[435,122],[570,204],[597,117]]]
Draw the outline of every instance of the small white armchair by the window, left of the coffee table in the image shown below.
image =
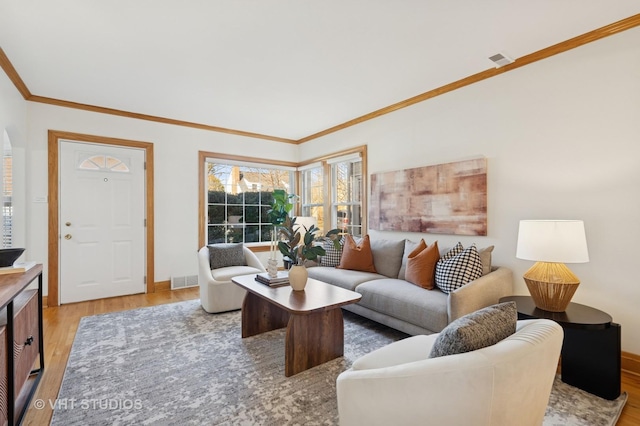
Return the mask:
[[231,282],[231,278],[239,275],[265,272],[258,257],[246,247],[242,248],[246,266],[227,266],[211,269],[209,248],[202,247],[198,251],[198,285],[200,286],[200,303],[209,313],[233,311],[242,308],[246,291]]

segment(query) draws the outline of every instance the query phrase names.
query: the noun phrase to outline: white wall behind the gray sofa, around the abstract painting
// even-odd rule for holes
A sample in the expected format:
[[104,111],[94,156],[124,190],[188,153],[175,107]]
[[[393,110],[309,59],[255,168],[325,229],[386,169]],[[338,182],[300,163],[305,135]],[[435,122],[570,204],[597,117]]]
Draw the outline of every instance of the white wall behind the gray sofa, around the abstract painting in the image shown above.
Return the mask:
[[591,261],[569,265],[574,302],[622,324],[623,350],[640,354],[640,28],[345,129],[301,146],[367,144],[369,173],[488,159],[488,236],[373,237],[494,244],[516,294],[533,262],[515,258],[520,219],[582,219]]

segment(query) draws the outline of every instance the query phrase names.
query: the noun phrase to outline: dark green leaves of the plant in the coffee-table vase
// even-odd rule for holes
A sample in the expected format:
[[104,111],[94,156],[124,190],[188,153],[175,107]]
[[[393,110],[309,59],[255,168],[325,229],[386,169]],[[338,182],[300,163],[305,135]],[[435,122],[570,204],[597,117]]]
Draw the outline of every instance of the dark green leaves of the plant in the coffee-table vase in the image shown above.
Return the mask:
[[[301,226],[306,231],[304,238],[300,233]],[[314,244],[315,241],[328,238],[333,241],[336,248],[340,247],[339,229],[332,229],[324,237],[317,238],[316,233],[319,230],[320,228],[315,225],[311,225],[310,228],[304,225],[296,225],[296,218],[287,216],[280,226],[279,235],[283,237],[283,240],[278,241],[278,250],[283,256],[288,257],[293,265],[300,265],[305,260],[316,260],[318,256],[326,254],[322,245]]]

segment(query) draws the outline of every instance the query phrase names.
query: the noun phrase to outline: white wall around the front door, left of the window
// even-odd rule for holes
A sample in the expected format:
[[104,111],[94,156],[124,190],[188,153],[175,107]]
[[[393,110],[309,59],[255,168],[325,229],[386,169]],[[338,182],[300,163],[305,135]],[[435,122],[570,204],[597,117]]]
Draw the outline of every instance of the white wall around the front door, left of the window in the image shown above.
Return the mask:
[[[154,144],[155,281],[197,275],[198,151],[295,161],[297,146],[28,102],[30,259],[47,260],[48,130]],[[45,286],[46,287],[46,286]],[[46,294],[46,288],[45,288]]]

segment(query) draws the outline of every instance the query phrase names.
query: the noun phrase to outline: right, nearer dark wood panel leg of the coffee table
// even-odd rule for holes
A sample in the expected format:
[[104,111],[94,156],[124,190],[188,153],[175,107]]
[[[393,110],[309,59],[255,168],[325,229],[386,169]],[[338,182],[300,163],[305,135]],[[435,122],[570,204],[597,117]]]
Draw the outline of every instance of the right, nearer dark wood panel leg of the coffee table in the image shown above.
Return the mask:
[[289,377],[344,354],[342,309],[292,314],[285,342],[285,370]]

